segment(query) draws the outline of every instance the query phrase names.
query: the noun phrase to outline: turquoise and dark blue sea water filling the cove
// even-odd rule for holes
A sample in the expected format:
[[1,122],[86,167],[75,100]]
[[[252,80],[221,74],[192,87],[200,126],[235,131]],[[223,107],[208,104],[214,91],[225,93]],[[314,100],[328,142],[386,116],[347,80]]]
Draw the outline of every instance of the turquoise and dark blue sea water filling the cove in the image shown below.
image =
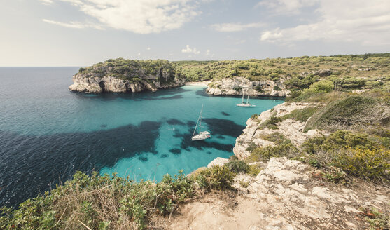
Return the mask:
[[[76,170],[135,180],[188,173],[229,157],[251,114],[281,100],[211,97],[203,86],[155,93],[69,92],[78,67],[0,68],[0,206],[55,188]],[[208,140],[192,142],[200,108]]]

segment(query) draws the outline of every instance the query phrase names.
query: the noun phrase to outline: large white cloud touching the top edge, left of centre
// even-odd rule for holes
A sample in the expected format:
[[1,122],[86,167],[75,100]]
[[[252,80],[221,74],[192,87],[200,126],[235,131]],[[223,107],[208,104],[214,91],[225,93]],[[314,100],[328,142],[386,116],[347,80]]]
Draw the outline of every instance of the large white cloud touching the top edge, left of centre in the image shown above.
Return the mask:
[[[53,0],[41,0],[43,3]],[[76,6],[106,27],[138,34],[178,29],[200,12],[195,0],[55,0]]]

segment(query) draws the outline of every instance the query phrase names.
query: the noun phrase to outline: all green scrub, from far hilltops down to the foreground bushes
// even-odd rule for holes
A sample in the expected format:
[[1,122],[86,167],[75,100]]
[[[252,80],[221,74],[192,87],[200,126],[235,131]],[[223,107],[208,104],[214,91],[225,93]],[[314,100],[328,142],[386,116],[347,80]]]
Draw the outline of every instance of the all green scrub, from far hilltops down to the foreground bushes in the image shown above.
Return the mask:
[[[186,177],[165,175],[161,182],[134,182],[116,175],[85,175],[57,185],[18,208],[0,209],[0,229],[145,229],[154,220],[172,215],[177,205],[213,190],[233,190],[236,173],[256,177],[259,161],[286,156],[312,165],[321,182],[349,184],[367,180],[390,182],[390,54],[293,57],[246,61],[107,60],[80,69],[83,74],[118,74],[128,79],[166,69],[187,81],[244,76],[253,81],[284,81],[292,89],[286,103],[312,105],[285,116],[271,116],[258,129],[277,130],[284,119],[306,122],[304,131],[320,129],[327,136],[313,137],[295,146],[280,133],[263,135],[274,146],[250,144],[251,156],[232,156],[223,166],[199,169]],[[332,69],[322,71],[321,69]],[[130,75],[129,73],[136,74]],[[304,73],[304,74],[302,74]],[[321,76],[322,75],[322,76]],[[324,76],[325,75],[325,76]],[[365,89],[353,93],[352,89]],[[257,115],[252,116],[257,119]],[[255,120],[256,121],[256,120]],[[254,162],[251,163],[251,162]],[[248,163],[251,163],[250,165]],[[248,184],[240,182],[242,187]],[[376,216],[375,216],[376,217]],[[379,218],[379,215],[378,215]],[[388,215],[371,221],[372,229],[389,229]]]

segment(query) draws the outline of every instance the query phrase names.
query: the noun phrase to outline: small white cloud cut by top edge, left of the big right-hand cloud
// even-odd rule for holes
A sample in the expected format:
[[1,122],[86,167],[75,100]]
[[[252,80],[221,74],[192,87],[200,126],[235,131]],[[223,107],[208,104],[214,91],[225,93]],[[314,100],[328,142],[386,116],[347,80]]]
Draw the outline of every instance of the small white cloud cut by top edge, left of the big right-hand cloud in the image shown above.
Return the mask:
[[256,6],[265,6],[275,13],[295,14],[301,8],[314,6],[320,0],[262,0]]

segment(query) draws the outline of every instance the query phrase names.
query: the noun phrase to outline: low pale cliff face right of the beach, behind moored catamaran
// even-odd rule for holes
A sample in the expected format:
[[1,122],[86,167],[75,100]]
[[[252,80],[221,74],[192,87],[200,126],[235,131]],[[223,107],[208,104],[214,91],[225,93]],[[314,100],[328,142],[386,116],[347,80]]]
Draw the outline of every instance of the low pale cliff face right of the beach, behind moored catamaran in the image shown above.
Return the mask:
[[286,97],[290,93],[282,81],[249,81],[243,77],[213,81],[206,89],[206,93],[209,95],[242,95],[243,90],[245,95],[256,96]]

